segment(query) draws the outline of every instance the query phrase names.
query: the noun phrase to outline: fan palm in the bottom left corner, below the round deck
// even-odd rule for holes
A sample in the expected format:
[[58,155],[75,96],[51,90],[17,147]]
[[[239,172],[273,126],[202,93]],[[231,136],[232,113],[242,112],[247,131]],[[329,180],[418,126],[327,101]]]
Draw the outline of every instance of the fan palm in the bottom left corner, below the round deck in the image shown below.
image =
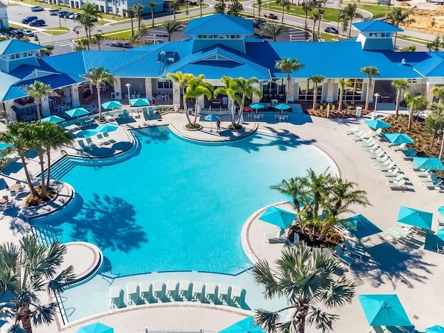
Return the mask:
[[32,333],[33,324],[49,325],[54,320],[58,311],[56,298],[49,298],[45,305],[40,299],[44,291],[53,296],[74,282],[73,266],[61,270],[66,253],[64,244],[53,241],[44,246],[33,234],[24,236],[19,246],[0,246],[0,299],[7,294],[13,296],[0,307],[8,307],[4,313],[15,321],[15,332],[20,331],[20,324],[25,332]]

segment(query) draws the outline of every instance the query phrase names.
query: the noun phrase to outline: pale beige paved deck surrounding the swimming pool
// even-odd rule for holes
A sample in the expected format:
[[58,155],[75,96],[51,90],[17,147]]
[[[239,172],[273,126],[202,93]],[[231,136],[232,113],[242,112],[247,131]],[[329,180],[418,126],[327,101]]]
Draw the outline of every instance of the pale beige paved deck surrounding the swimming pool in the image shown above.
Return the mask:
[[[222,120],[222,127],[228,126],[226,119]],[[391,156],[395,164],[408,178],[409,190],[392,191],[386,186],[382,173],[370,162],[363,149],[352,141],[344,131],[353,126],[358,126],[365,132],[368,127],[363,124],[368,118],[359,119],[323,119],[309,117],[306,114],[290,114],[289,121],[275,121],[273,114],[266,114],[260,121],[249,121],[244,124],[247,128],[245,134],[254,130],[265,130],[277,135],[291,135],[321,148],[330,155],[339,169],[340,176],[349,181],[356,182],[359,189],[365,189],[372,206],[357,207],[356,214],[363,214],[377,228],[382,230],[377,234],[362,238],[361,244],[366,248],[368,257],[361,263],[349,269],[348,276],[357,284],[357,294],[362,293],[397,293],[402,305],[416,330],[424,332],[425,327],[443,324],[442,300],[444,276],[444,255],[436,255],[436,239],[432,235],[416,237],[416,246],[395,245],[384,239],[384,231],[395,225],[400,205],[413,207],[434,213],[432,230],[437,230],[436,211],[443,203],[444,194],[426,189],[398,153],[382,143],[384,151]],[[199,121],[204,123],[203,121]],[[111,133],[116,142],[110,148],[97,148],[87,153],[79,149],[65,148],[64,151],[54,153],[54,160],[58,160],[63,153],[83,156],[107,156],[110,153],[121,153],[132,142],[132,137],[125,129],[143,128],[154,125],[171,125],[176,133],[185,133],[187,137],[202,141],[221,141],[228,137],[235,139],[244,133],[234,135],[230,131],[222,130],[221,133],[210,132],[210,128],[200,131],[187,131],[184,129],[186,118],[184,114],[164,114],[162,117],[151,119],[149,124],[144,119],[135,119],[121,123],[119,130]],[[207,123],[205,122],[205,125]],[[213,123],[213,125],[215,125]],[[115,147],[114,147],[115,146]],[[77,153],[76,153],[77,152]],[[31,173],[38,173],[38,164],[35,158],[28,162]],[[6,170],[8,171],[8,169]],[[12,172],[15,171],[15,172]],[[8,171],[5,178],[8,185],[15,180],[23,180],[24,175],[18,167],[17,170]],[[6,190],[2,190],[6,191]],[[1,191],[0,191],[1,195]],[[14,214],[14,212],[16,214]],[[258,212],[251,212],[243,228],[242,241],[247,245],[248,256],[266,259],[273,262],[279,255],[282,244],[268,244],[264,241],[265,232],[273,232],[275,228],[257,219]],[[5,213],[0,223],[0,239],[5,241],[17,241],[20,234],[28,231],[24,221],[17,218],[17,210]],[[9,216],[10,215],[10,216]],[[346,216],[352,216],[348,214]],[[76,264],[77,259],[69,255],[67,262]],[[262,295],[257,295],[261,298]],[[85,306],[87,306],[85,295]],[[334,325],[335,332],[368,332],[370,327],[361,309],[359,301],[355,298],[351,305],[346,305],[332,312],[339,314],[340,318]],[[252,312],[250,312],[251,314]],[[248,311],[234,309],[232,307],[212,307],[200,305],[196,302],[178,302],[168,305],[142,305],[128,307],[119,311],[108,311],[92,318],[85,318],[80,322],[67,327],[60,327],[60,323],[46,327],[35,327],[34,332],[67,332],[74,333],[78,327],[101,321],[114,327],[114,332],[143,332],[144,327],[150,330],[196,330],[203,327],[206,331],[218,332],[223,327],[231,325],[248,315]],[[315,332],[312,327],[307,327],[307,333]]]

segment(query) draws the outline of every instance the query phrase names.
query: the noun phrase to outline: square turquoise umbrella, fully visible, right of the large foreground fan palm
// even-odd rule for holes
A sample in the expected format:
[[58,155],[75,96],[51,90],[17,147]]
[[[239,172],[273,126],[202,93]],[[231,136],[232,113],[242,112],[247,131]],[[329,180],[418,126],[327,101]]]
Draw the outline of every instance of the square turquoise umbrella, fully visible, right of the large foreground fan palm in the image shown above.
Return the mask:
[[411,326],[397,295],[358,295],[370,326]]

